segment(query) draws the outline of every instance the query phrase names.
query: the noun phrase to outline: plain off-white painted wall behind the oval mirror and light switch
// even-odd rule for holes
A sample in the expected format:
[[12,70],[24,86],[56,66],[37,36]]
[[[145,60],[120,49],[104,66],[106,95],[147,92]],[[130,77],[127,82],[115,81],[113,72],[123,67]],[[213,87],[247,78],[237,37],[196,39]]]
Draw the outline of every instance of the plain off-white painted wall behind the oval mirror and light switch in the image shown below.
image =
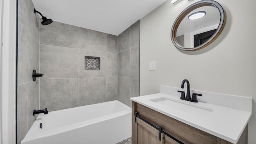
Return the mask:
[[[166,1],[140,21],[140,96],[159,92],[159,86],[190,88],[254,98],[249,122],[249,144],[256,144],[256,1],[217,0],[227,13],[220,36],[194,52],[178,50],[170,39],[176,17],[196,1]],[[148,62],[156,61],[156,70]]]

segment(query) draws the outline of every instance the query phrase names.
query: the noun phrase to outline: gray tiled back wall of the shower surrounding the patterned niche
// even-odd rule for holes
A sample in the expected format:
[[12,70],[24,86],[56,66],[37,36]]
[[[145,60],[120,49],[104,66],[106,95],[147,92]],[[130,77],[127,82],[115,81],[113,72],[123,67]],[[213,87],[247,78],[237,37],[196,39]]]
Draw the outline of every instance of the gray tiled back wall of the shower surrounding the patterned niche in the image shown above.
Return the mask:
[[[117,100],[117,36],[60,22],[40,26],[40,109]],[[84,56],[100,70],[84,70]]]

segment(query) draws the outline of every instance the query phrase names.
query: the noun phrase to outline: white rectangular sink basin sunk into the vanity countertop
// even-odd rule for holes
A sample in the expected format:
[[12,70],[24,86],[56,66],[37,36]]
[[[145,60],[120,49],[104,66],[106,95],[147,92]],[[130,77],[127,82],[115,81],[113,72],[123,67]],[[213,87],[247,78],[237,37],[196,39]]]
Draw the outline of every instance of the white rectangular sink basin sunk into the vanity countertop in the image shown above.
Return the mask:
[[183,113],[186,118],[191,116],[206,116],[214,111],[212,108],[200,106],[195,102],[175,100],[167,97],[155,98],[151,99],[150,101],[171,108],[179,113]]

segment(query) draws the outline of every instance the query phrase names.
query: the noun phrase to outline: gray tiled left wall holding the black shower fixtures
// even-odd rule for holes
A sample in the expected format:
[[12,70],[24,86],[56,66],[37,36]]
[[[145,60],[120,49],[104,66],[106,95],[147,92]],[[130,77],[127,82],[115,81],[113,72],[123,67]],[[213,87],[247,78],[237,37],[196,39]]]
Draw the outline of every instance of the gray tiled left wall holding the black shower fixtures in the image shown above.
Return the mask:
[[32,71],[39,72],[40,17],[34,13],[32,0],[18,1],[18,144],[34,123],[33,110],[39,109],[39,79],[32,80]]

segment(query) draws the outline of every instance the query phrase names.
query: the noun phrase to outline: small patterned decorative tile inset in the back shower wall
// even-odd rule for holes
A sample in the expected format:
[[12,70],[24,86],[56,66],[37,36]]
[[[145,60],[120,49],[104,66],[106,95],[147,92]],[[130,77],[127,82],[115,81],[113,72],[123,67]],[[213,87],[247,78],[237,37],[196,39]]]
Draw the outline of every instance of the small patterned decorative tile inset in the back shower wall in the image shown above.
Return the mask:
[[84,70],[100,70],[100,57],[84,56]]

